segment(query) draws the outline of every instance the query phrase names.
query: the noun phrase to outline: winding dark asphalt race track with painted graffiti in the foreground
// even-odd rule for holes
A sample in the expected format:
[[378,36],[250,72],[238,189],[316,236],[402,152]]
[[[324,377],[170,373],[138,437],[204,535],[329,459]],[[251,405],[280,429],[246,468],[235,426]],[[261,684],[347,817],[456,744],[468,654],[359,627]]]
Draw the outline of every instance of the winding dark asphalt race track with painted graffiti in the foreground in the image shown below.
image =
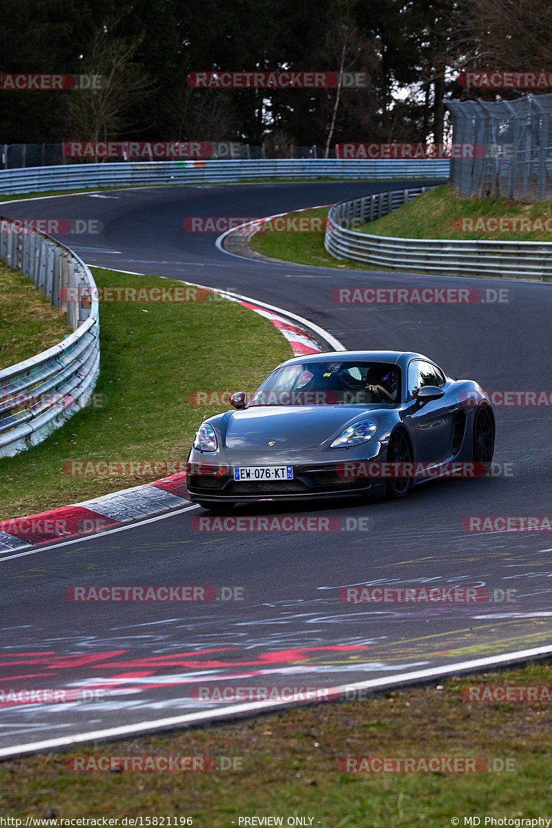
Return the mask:
[[[420,351],[488,391],[550,392],[549,285],[313,271],[237,258],[215,247],[216,233],[182,228],[190,215],[270,215],[406,184],[143,188],[17,201],[1,205],[0,213],[100,219],[100,235],[60,237],[89,265],[237,291],[307,317],[346,348]],[[330,298],[337,287],[405,285],[478,288],[483,298],[487,289],[506,289],[507,301],[348,306]],[[2,556],[0,686],[110,688],[89,704],[5,706],[4,755],[42,740],[70,742],[74,734],[105,729],[124,734],[220,708],[194,699],[199,686],[341,686],[549,646],[550,533],[462,526],[472,515],[550,514],[550,407],[500,406],[496,415],[496,477],[431,482],[403,501],[233,511],[334,517],[335,532],[202,533],[192,520],[204,513],[192,507],[88,540]],[[202,416],[199,410],[198,422]],[[501,474],[505,464],[511,476]],[[224,596],[232,599],[66,599],[70,587],[93,584],[211,585],[218,595],[231,587]],[[344,603],[339,589],[349,585],[482,587],[509,600]]]

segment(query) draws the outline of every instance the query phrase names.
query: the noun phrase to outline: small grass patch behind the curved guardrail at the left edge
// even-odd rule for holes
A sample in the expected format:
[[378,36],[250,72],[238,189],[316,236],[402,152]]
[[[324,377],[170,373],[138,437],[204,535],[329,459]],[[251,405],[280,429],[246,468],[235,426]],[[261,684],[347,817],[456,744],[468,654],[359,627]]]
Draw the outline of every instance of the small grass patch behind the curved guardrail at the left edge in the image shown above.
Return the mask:
[[71,330],[66,311],[52,307],[26,276],[0,264],[0,370],[46,351]]

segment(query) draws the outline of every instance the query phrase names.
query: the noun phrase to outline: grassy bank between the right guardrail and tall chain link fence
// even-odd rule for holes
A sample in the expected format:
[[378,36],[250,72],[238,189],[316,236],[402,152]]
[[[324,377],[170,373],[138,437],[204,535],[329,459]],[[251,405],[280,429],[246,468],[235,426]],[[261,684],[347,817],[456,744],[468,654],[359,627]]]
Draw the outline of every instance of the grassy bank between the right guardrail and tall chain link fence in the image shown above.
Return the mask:
[[552,218],[552,205],[513,204],[505,198],[466,199],[455,195],[448,185],[434,187],[417,195],[382,219],[367,222],[361,233],[395,238],[456,238],[462,241],[487,239],[501,242],[551,242],[552,233],[465,233],[455,229],[455,219],[478,217]]

